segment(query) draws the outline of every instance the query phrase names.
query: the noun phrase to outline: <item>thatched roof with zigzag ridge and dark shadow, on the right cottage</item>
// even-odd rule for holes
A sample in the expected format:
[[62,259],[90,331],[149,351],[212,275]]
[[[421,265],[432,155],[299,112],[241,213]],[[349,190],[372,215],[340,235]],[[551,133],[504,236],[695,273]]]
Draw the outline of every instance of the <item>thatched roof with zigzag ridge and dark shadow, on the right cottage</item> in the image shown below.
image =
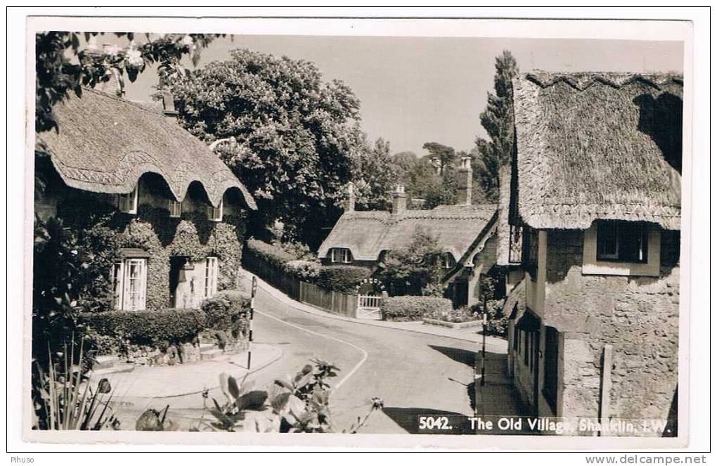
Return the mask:
[[676,75],[516,77],[523,222],[587,229],[594,219],[625,219],[680,229],[682,92]]

